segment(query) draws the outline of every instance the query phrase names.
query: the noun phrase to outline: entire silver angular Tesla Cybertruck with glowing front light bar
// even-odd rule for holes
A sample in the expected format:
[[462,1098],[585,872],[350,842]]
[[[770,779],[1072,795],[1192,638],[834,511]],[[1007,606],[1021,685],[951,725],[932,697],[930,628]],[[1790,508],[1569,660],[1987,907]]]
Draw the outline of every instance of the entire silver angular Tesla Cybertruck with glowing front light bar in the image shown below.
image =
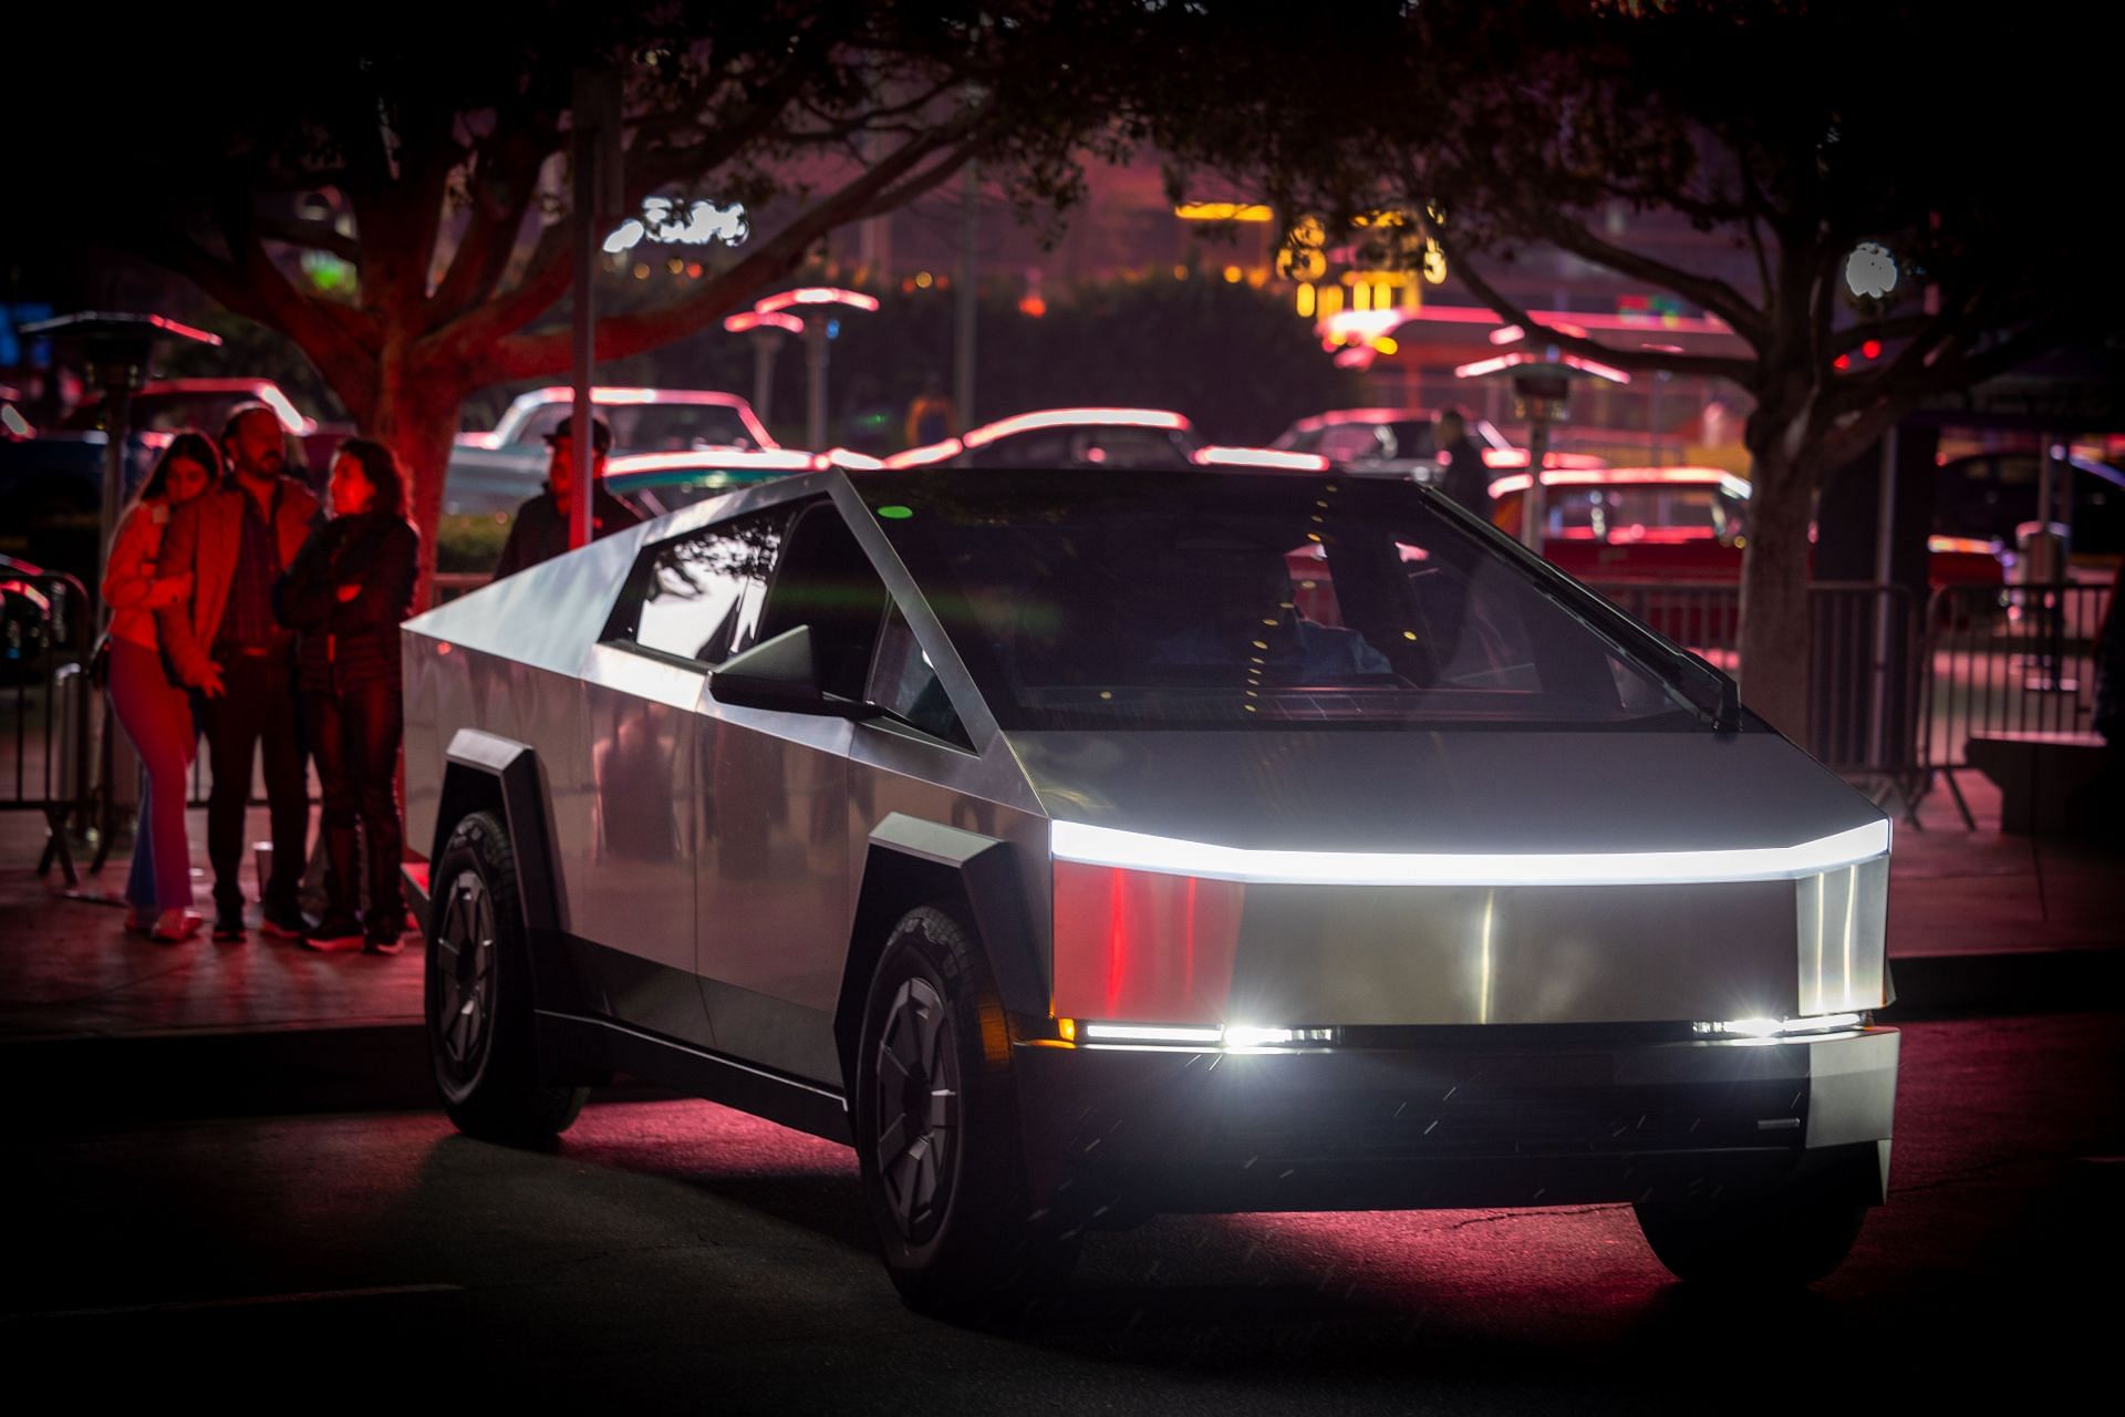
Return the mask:
[[1885,1198],[1887,818],[1426,489],[827,470],[404,656],[457,1126],[625,1071],[850,1143],[920,1309],[1160,1211],[1632,1202],[1798,1283]]

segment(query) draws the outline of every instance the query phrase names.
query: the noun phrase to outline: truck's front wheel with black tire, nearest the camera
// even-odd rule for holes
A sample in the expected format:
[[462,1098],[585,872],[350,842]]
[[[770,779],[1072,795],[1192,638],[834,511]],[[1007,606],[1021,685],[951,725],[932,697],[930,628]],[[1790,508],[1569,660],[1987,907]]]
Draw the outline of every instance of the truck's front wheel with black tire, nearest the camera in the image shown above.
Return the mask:
[[1035,1211],[1003,1005],[952,905],[892,928],[856,1049],[856,1158],[886,1273],[920,1313],[1009,1324],[1054,1292],[1075,1228]]

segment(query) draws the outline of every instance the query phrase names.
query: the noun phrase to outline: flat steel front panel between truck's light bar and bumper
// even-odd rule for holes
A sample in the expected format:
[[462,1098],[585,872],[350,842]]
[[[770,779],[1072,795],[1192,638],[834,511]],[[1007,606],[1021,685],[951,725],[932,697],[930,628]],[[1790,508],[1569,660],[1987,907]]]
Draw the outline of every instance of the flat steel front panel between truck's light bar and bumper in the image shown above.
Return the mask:
[[[1056,869],[1058,1015],[1604,1024],[1796,1011],[1794,886],[1237,886]],[[1148,877],[1150,880],[1150,877]],[[1235,892],[1205,905],[1205,890]],[[1243,907],[1239,894],[1243,892]],[[1237,909],[1235,926],[1228,905]],[[1222,986],[1228,971],[1228,986]]]

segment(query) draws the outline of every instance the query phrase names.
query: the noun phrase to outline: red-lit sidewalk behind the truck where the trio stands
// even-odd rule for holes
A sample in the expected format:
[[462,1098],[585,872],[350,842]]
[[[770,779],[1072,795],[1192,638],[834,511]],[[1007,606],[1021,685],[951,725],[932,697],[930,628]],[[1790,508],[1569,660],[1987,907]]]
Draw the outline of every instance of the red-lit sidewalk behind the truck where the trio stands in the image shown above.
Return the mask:
[[[2125,984],[2125,846],[2002,837],[2000,797],[1961,775],[1978,831],[1946,788],[1898,822],[1889,960],[1898,1003],[1885,1022],[1932,1013],[2106,1007]],[[266,837],[264,809],[251,837]],[[206,911],[204,812],[191,814]],[[36,875],[42,818],[0,816],[0,1056],[32,1092],[98,1115],[115,1096],[157,1107],[276,1111],[427,1107],[421,950],[395,958],[312,954],[253,931],[240,945],[202,933],[157,945],[121,928],[121,909],[68,899]],[[123,888],[123,860],[89,892]],[[255,894],[246,854],[244,884]],[[253,907],[255,918],[255,907]]]

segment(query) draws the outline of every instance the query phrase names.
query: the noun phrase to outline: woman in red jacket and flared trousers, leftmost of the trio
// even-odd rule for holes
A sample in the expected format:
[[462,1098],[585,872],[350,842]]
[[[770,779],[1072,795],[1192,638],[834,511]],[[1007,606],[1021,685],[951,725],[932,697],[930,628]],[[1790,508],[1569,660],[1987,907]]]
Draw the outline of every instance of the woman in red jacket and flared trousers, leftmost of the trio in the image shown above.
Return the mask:
[[196,735],[191,699],[170,680],[155,612],[191,593],[191,576],[157,574],[170,512],[221,480],[215,440],[185,429],[155,459],[140,495],[125,508],[110,542],[104,603],[110,608],[110,707],[147,769],[132,873],[125,877],[125,928],[164,943],[200,928],[191,909],[191,843],[185,839],[185,771]]

